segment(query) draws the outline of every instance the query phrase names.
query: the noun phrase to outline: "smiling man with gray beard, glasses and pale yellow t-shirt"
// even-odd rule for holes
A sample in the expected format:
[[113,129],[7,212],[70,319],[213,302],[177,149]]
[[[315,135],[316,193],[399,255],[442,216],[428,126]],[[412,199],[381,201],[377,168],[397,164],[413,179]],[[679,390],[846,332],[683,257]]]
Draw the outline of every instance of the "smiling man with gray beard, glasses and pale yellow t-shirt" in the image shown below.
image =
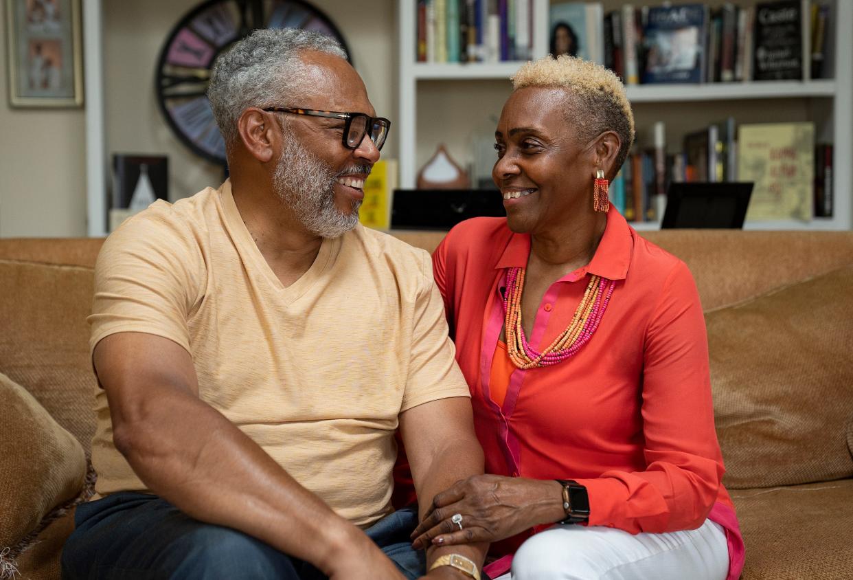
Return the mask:
[[[313,32],[253,32],[208,96],[229,180],[98,257],[98,481],[63,577],[479,578],[484,545],[409,540],[483,455],[427,252],[358,223],[389,121]],[[395,512],[397,429],[421,502]]]

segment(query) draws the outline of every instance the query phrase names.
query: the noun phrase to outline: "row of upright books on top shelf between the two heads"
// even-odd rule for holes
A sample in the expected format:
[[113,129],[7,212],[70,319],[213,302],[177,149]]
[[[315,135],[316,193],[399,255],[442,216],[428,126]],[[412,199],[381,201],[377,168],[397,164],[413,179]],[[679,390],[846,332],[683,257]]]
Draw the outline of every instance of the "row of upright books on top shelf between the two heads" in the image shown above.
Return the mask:
[[533,0],[417,0],[419,62],[526,61]]

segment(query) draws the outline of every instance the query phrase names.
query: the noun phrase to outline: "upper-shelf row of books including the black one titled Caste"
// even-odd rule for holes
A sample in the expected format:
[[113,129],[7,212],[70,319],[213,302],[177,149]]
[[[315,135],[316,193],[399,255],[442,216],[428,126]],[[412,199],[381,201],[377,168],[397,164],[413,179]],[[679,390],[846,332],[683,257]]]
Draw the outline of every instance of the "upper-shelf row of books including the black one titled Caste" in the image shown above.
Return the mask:
[[624,4],[603,16],[601,3],[557,3],[551,52],[598,61],[626,84],[832,78],[835,1]]

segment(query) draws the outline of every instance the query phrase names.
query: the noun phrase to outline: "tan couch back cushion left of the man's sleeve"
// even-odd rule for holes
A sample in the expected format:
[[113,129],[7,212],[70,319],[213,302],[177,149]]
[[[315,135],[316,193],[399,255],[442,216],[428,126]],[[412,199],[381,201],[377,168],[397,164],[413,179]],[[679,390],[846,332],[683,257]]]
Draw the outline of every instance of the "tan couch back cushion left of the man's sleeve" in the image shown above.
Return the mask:
[[0,373],[32,393],[89,450],[96,380],[86,316],[90,268],[0,259]]

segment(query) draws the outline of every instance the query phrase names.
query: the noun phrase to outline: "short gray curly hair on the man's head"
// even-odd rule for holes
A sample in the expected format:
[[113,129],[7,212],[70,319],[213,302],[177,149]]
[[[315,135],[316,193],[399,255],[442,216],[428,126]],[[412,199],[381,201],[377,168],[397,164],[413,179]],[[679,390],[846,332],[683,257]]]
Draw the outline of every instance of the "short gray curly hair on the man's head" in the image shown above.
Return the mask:
[[305,86],[304,50],[346,60],[337,40],[298,28],[256,30],[218,56],[207,98],[219,131],[230,148],[238,137],[237,119],[248,107],[293,107],[293,96]]

